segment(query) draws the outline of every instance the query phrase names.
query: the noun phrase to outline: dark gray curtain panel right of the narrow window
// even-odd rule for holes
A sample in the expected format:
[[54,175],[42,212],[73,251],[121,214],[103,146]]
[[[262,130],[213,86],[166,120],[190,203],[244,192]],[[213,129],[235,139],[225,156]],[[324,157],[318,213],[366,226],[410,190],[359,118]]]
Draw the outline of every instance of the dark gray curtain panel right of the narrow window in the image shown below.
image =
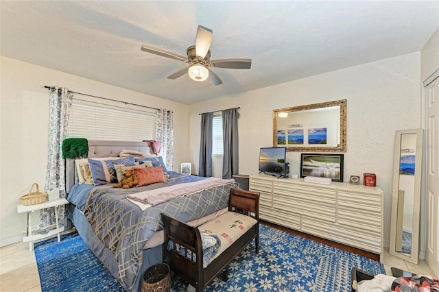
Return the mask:
[[222,156],[222,178],[232,178],[238,169],[238,109],[222,111],[224,154]]

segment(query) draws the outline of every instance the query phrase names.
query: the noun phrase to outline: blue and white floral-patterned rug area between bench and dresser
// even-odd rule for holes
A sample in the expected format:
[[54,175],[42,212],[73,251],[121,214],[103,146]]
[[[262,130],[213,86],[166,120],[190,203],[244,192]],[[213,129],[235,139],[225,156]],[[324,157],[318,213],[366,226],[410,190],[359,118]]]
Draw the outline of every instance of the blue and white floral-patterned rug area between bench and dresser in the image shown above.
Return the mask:
[[[259,226],[259,254],[254,242],[228,265],[228,281],[215,278],[206,291],[351,291],[351,269],[385,273],[381,263],[294,234]],[[173,280],[172,291],[186,291]]]

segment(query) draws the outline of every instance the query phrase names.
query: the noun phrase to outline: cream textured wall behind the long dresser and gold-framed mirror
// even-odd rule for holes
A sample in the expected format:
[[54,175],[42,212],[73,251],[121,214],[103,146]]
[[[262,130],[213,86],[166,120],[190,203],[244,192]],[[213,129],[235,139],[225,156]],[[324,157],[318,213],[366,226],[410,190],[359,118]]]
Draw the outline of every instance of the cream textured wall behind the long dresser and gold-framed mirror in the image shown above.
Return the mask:
[[[226,86],[227,84],[224,84]],[[213,99],[190,107],[192,163],[198,171],[200,112],[239,109],[239,173],[258,171],[260,147],[272,146],[276,108],[347,99],[344,180],[376,173],[384,195],[384,238],[388,245],[392,206],[395,130],[420,127],[420,53],[370,62],[302,80]],[[299,173],[300,153],[289,152],[290,172]]]

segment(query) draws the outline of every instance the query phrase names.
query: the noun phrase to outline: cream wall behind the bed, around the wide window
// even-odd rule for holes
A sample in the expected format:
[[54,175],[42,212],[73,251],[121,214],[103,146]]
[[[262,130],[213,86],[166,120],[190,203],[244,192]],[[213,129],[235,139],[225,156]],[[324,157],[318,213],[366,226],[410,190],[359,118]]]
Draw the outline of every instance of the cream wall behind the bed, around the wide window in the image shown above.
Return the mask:
[[[83,77],[0,57],[0,245],[21,241],[25,215],[16,214],[19,197],[33,182],[44,188],[47,164],[49,92],[45,85],[128,101],[133,104],[167,108],[174,112],[174,170],[189,161],[189,106],[131,90],[110,86]],[[86,98],[81,96],[81,98]],[[37,212],[33,216],[36,223]]]

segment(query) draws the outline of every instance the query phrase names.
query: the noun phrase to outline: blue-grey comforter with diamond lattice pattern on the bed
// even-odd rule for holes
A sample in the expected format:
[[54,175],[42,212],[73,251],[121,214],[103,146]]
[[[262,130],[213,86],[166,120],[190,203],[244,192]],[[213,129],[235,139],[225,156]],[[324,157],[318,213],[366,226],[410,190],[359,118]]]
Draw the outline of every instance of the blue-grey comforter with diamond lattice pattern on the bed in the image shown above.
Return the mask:
[[119,280],[130,289],[139,273],[142,251],[154,232],[163,229],[161,213],[187,222],[228,206],[233,183],[215,186],[186,197],[141,210],[126,195],[156,187],[202,180],[192,175],[171,175],[165,183],[141,188],[93,188],[84,207],[84,215],[96,236],[115,254]]

